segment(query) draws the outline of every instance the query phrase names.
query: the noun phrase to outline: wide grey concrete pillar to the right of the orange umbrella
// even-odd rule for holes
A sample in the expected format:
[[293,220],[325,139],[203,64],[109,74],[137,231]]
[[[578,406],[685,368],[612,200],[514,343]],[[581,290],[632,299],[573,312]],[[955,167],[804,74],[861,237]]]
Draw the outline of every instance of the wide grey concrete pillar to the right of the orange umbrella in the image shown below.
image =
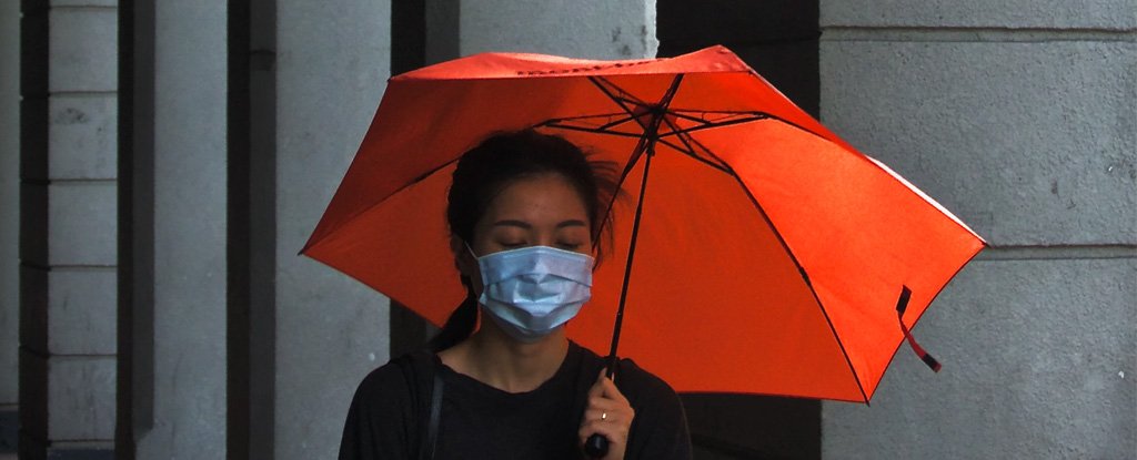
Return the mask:
[[822,119],[988,239],[829,458],[1137,452],[1137,1],[821,2]]

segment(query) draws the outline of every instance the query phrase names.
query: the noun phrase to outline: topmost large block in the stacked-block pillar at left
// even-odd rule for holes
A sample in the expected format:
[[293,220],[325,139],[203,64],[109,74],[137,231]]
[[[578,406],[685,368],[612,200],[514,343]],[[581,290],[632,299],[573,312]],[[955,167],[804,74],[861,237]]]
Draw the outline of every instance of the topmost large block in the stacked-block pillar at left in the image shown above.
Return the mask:
[[118,12],[114,9],[51,11],[49,82],[52,92],[118,89]]

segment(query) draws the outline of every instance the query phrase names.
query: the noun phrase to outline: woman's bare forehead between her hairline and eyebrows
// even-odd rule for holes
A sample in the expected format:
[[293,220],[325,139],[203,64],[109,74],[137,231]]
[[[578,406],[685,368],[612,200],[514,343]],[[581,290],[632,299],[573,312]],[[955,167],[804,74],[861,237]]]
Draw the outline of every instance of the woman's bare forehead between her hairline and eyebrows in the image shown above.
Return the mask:
[[490,201],[483,220],[588,220],[584,200],[559,174],[526,176],[507,183]]

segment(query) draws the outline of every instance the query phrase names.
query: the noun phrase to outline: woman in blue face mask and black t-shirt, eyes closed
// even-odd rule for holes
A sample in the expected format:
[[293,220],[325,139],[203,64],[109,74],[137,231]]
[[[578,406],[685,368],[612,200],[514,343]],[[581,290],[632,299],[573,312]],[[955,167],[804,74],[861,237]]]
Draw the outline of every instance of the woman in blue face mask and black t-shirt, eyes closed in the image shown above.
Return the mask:
[[[666,383],[568,341],[615,185],[572,143],[525,129],[491,136],[454,173],[447,220],[467,288],[431,342],[356,391],[341,459],[689,459]],[[480,318],[479,318],[480,317]],[[480,320],[479,320],[480,319]],[[475,328],[476,325],[476,328]]]

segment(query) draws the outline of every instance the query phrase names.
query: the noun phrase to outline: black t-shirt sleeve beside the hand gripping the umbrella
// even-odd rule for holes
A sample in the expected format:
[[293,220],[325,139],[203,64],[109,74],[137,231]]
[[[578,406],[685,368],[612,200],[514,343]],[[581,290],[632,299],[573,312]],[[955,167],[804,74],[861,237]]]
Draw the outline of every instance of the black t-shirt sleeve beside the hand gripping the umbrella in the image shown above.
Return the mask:
[[[634,365],[632,365],[634,366]],[[636,410],[628,440],[628,459],[690,460],[691,435],[679,395],[667,383],[637,368]],[[633,373],[625,373],[630,376]]]

